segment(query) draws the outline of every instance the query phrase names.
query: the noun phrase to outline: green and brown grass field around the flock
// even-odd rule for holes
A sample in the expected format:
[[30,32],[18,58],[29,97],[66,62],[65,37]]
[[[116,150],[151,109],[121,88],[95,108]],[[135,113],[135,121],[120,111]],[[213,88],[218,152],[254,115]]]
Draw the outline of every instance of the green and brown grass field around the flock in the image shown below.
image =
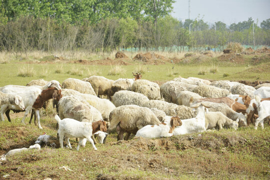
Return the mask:
[[[173,56],[175,54],[170,55],[171,58]],[[94,61],[97,57],[98,54],[85,58]],[[38,78],[62,82],[68,77],[82,79],[94,74],[110,79],[132,78],[132,71],[141,71],[143,79],[159,83],[178,76],[211,80],[270,80],[267,58],[255,65],[250,65],[248,59],[242,64],[216,63],[216,59],[198,64],[171,63],[170,60],[158,64],[142,64],[127,59],[127,65],[109,65],[71,63],[73,59],[35,63],[33,59],[25,58],[22,61],[13,58],[2,60],[0,86],[25,85]],[[40,59],[38,54],[35,58]],[[201,70],[205,70],[206,74],[198,75]],[[116,75],[108,75],[109,72]],[[224,73],[228,75],[224,76]],[[41,111],[43,129],[38,129],[34,124],[22,125],[20,119],[23,112],[10,113],[11,123],[6,118],[0,122],[0,154],[13,148],[28,147],[43,132],[56,137],[53,113],[55,109],[51,107]],[[29,115],[25,122],[28,120]],[[6,174],[9,176],[5,179],[270,178],[270,126],[266,123],[264,129],[258,127],[254,130],[253,125],[250,125],[237,130],[222,129],[169,138],[131,138],[117,142],[116,135],[110,134],[105,144],[96,144],[97,151],[87,142],[85,148],[81,147],[77,152],[74,148],[77,142],[71,139],[72,150],[43,147],[16,154],[0,162],[0,179]],[[62,166],[72,171],[59,168]]]

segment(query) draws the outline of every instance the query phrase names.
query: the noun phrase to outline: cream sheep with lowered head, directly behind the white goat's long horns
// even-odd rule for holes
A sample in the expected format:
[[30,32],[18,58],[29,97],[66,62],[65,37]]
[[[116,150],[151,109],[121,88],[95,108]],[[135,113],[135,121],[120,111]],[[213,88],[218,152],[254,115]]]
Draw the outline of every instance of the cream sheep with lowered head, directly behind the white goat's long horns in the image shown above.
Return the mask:
[[225,116],[227,116],[228,118],[230,118],[234,121],[236,121],[238,119],[239,127],[246,126],[246,117],[242,113],[235,112],[226,104],[209,102],[209,101],[204,101],[204,104],[206,104],[207,106],[210,106],[208,108],[209,111],[213,111],[213,112],[220,111]]

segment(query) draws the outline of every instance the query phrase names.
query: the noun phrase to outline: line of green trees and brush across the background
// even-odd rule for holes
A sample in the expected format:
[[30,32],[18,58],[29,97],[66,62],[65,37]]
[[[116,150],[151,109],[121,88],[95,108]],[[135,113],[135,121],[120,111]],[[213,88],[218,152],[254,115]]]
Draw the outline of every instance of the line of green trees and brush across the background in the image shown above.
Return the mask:
[[260,27],[251,18],[228,27],[221,21],[208,25],[199,17],[182,23],[168,15],[172,3],[173,0],[0,0],[0,50],[27,53],[133,47],[181,51],[183,46],[222,49],[231,41],[253,45],[253,25],[255,45],[270,45],[270,19],[262,21]]

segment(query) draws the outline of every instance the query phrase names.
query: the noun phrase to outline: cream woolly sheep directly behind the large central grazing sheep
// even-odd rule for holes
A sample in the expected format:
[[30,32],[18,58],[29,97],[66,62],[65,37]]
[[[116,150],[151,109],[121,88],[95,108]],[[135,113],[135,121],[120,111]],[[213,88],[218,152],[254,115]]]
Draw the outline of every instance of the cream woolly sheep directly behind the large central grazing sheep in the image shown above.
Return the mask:
[[141,106],[148,100],[149,99],[145,95],[139,92],[133,92],[129,90],[120,90],[118,92],[115,92],[111,98],[112,103],[116,107],[130,104]]

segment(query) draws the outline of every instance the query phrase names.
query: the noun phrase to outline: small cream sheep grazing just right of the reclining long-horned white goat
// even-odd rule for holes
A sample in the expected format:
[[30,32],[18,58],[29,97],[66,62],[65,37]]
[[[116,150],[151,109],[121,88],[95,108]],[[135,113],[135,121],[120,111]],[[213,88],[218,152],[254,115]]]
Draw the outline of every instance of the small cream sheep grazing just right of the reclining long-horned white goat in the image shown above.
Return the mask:
[[219,129],[222,129],[224,126],[229,128],[234,128],[235,130],[238,128],[238,121],[231,120],[227,116],[225,116],[221,112],[207,112],[205,113],[205,128],[211,129],[218,127]]

